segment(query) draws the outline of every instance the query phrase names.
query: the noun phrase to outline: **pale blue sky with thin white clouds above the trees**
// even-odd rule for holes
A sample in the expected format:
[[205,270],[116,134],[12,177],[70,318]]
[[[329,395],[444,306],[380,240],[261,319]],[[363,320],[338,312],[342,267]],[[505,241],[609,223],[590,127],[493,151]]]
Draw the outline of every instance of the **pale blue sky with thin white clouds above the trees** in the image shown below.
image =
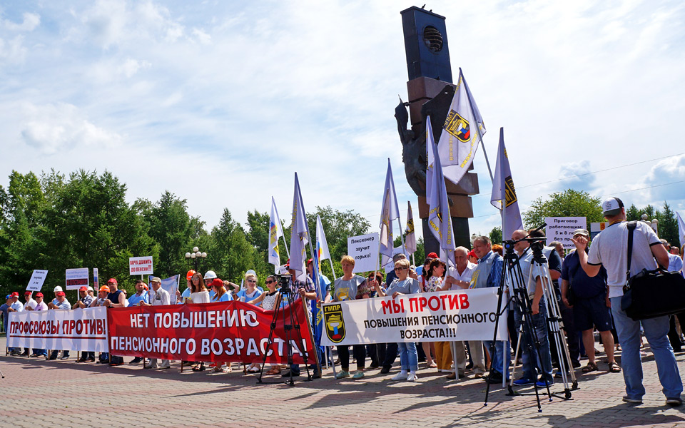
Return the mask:
[[[409,6],[3,2],[0,184],[13,169],[107,169],[131,202],[170,190],[212,226],[223,208],[243,223],[267,212],[272,195],[288,218],[297,171],[305,208],[353,209],[375,227],[390,158],[404,220],[416,198],[393,113],[407,98]],[[685,4],[426,8],[447,16],[453,74],[462,67],[480,107],[493,168],[504,126],[522,210],[568,187],[685,210],[685,183],[666,185],[685,180]],[[487,233],[499,215],[481,153],[475,172],[470,228]]]

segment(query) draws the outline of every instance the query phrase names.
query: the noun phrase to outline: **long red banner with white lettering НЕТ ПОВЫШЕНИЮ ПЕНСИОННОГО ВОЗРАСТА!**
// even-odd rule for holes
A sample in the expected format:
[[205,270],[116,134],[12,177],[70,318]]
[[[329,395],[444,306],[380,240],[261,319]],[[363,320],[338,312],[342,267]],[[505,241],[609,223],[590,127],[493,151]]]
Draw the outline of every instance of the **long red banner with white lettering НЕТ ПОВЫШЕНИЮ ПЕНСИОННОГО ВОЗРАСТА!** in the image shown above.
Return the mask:
[[[304,352],[312,363],[315,352],[311,351],[312,336],[302,300],[296,300],[292,309],[295,326],[288,331],[288,338],[293,362],[304,362],[297,332],[300,326]],[[107,311],[110,352],[162,360],[262,362],[273,312],[235,301],[113,308]],[[266,362],[288,362],[285,324],[290,324],[290,307],[278,312]]]

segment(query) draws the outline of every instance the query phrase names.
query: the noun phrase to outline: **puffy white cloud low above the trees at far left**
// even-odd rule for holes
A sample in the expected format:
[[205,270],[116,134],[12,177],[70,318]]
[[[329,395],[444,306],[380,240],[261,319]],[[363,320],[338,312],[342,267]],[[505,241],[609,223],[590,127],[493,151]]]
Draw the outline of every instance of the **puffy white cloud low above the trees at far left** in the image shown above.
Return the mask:
[[78,146],[103,148],[121,140],[116,133],[86,120],[71,104],[26,104],[24,112],[26,119],[21,126],[21,138],[44,155],[68,152]]

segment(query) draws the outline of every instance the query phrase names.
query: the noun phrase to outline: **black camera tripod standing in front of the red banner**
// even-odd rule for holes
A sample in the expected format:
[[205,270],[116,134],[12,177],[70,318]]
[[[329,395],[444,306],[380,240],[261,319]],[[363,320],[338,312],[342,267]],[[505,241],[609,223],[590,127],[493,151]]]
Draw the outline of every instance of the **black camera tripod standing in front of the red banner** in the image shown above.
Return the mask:
[[[283,330],[285,330],[285,346],[288,354],[288,370],[290,371],[290,379],[286,380],[285,383],[291,387],[295,384],[293,381],[293,370],[290,367],[293,365],[293,340],[297,340],[298,347],[300,347],[300,354],[303,357],[305,367],[307,369],[307,380],[312,380],[313,376],[309,371],[308,357],[309,352],[305,349],[305,341],[302,338],[302,331],[300,330],[300,323],[295,317],[293,312],[293,302],[295,302],[295,296],[293,290],[290,289],[290,276],[289,275],[277,275],[280,282],[280,296],[281,304],[274,307],[273,317],[271,318],[271,325],[269,330],[269,338],[266,342],[266,350],[262,357],[262,367],[259,371],[259,377],[257,383],[260,384],[277,384],[281,382],[263,382],[262,376],[264,374],[264,366],[266,365],[266,357],[268,357],[271,345],[273,345],[273,336],[276,329],[276,322],[279,320],[279,315],[283,320]],[[283,300],[285,299],[285,307],[283,306]],[[303,302],[303,310],[307,310],[307,307]],[[305,313],[305,317],[308,315]],[[307,325],[307,328],[309,326]]]

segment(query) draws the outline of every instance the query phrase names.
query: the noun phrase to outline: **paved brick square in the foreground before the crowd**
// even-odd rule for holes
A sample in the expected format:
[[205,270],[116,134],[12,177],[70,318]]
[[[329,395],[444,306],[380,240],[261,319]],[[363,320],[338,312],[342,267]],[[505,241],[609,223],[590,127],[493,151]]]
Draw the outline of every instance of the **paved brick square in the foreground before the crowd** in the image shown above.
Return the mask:
[[[482,380],[447,381],[435,369],[420,369],[415,383],[392,382],[396,370],[357,381],[325,370],[288,387],[258,385],[238,364],[231,373],[181,373],[178,362],[171,370],[78,364],[76,352],[66,361],[2,356],[0,416],[7,427],[685,427],[685,409],[666,407],[647,353],[644,404],[621,402],[622,374],[600,362],[598,372],[577,370],[572,401],[544,397],[542,413],[534,397],[507,397],[499,387],[483,407]],[[684,373],[685,355],[676,360]]]

